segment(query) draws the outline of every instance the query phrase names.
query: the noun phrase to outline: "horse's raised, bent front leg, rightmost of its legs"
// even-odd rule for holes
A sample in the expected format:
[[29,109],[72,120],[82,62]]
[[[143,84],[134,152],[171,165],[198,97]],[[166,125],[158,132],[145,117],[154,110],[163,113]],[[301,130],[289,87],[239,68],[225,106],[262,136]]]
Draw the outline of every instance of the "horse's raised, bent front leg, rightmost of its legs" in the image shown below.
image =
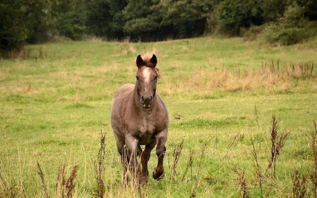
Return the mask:
[[159,132],[156,136],[156,142],[157,142],[157,156],[158,156],[158,165],[153,171],[153,178],[154,179],[159,179],[160,176],[163,175],[164,173],[164,168],[163,168],[163,159],[165,155],[165,142],[167,140],[167,129]]

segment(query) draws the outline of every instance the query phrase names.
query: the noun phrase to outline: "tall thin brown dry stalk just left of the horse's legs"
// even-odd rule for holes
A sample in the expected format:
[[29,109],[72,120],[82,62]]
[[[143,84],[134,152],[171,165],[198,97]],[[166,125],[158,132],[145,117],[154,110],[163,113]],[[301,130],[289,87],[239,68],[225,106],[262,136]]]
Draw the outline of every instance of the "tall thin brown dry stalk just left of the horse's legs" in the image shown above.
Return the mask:
[[100,132],[100,148],[98,152],[98,158],[95,161],[95,173],[96,173],[96,181],[97,181],[97,188],[98,188],[98,197],[103,198],[105,193],[105,184],[102,178],[102,173],[105,171],[105,140],[106,134],[104,131]]

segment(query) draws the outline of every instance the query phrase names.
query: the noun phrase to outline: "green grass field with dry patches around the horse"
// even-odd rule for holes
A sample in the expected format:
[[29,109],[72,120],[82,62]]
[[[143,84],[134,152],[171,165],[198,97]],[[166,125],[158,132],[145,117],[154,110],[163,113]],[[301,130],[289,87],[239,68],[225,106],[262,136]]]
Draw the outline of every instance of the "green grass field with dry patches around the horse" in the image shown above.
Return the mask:
[[[136,56],[152,49],[161,73],[157,90],[170,117],[165,177],[152,178],[153,151],[149,184],[133,192],[122,190],[110,103],[116,88],[135,82]],[[317,62],[316,39],[290,47],[210,37],[27,46],[20,58],[0,59],[0,197],[46,197],[45,189],[50,197],[59,196],[63,162],[68,173],[78,166],[73,196],[98,197],[94,165],[101,131],[106,132],[105,197],[240,197],[235,169],[244,171],[246,193],[261,197],[252,141],[264,197],[292,197],[295,170],[307,178],[306,196],[313,197],[317,66],[312,62]],[[276,177],[266,170],[272,114],[278,135],[290,133],[277,155]],[[182,139],[178,174],[171,180],[173,150]],[[193,163],[183,177],[190,155]]]

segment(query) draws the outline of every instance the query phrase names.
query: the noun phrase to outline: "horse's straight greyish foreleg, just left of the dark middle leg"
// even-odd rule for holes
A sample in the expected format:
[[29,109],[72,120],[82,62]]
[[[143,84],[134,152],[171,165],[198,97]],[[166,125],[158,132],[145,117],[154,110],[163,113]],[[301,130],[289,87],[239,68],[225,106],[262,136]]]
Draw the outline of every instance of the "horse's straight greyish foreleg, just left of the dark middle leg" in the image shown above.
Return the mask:
[[131,180],[134,184],[137,184],[137,177],[140,172],[137,158],[138,142],[139,141],[133,136],[127,136],[125,138],[127,162],[131,173]]

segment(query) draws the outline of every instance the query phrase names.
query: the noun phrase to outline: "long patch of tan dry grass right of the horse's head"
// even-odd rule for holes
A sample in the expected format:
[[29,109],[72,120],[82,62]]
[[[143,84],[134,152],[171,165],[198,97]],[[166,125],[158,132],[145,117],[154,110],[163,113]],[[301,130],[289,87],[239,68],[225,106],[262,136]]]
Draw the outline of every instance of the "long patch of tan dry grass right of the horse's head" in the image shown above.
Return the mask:
[[[306,65],[306,66],[305,66]],[[309,65],[309,66],[308,66]],[[316,69],[315,69],[316,70]],[[264,64],[261,69],[217,69],[213,71],[201,69],[183,81],[173,85],[165,83],[163,90],[168,94],[180,92],[200,92],[202,90],[216,90],[223,92],[254,91],[264,89],[268,91],[287,91],[301,84],[316,84],[317,74],[313,63],[291,63],[288,66],[276,67]]]

